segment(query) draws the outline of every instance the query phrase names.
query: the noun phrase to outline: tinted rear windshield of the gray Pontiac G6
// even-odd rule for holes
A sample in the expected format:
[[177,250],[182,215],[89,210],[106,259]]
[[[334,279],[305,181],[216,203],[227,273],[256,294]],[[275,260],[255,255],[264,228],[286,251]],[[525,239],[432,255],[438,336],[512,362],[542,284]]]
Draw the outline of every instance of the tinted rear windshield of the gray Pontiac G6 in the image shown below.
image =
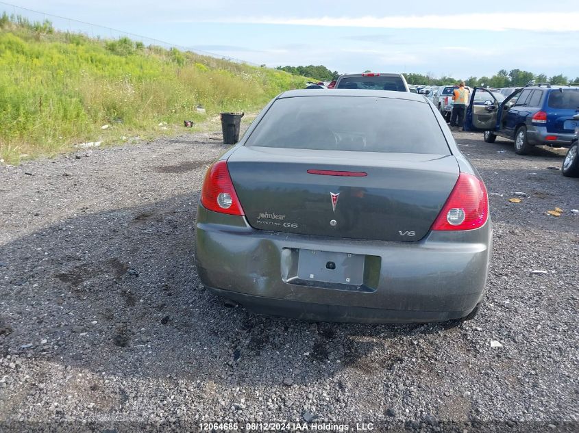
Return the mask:
[[278,99],[246,146],[450,155],[430,105],[365,96]]

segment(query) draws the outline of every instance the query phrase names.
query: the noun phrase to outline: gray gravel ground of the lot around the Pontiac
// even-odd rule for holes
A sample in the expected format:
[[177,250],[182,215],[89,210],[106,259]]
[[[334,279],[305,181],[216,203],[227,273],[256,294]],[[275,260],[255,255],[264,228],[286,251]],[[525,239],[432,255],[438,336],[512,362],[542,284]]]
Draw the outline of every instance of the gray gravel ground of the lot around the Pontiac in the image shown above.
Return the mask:
[[579,179],[550,169],[561,152],[455,135],[495,222],[465,324],[310,324],[206,291],[193,227],[217,133],[0,167],[0,431],[578,431]]

